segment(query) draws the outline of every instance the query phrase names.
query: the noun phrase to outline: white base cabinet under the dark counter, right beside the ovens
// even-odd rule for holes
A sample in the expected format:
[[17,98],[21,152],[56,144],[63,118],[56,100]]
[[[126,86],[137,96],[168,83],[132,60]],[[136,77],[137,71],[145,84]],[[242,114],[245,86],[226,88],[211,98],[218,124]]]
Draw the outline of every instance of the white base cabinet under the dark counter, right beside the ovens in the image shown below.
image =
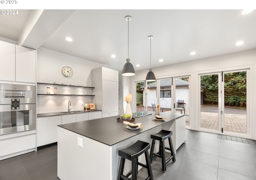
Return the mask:
[[57,142],[57,126],[61,116],[37,118],[37,147]]

